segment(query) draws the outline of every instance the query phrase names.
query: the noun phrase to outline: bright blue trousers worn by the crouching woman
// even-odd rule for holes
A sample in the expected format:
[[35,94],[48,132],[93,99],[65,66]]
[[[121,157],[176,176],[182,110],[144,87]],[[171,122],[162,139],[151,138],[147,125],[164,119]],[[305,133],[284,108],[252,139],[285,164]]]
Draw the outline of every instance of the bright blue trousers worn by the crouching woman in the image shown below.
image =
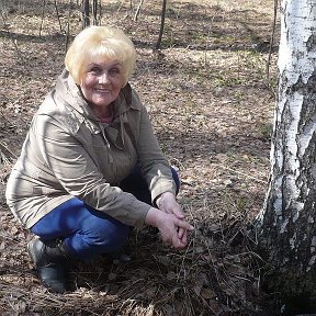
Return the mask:
[[[171,170],[178,193],[179,177],[173,168]],[[151,204],[150,192],[139,167],[122,181],[121,189]],[[44,240],[63,239],[74,257],[86,260],[120,250],[127,241],[129,226],[74,198],[41,218],[31,232]]]

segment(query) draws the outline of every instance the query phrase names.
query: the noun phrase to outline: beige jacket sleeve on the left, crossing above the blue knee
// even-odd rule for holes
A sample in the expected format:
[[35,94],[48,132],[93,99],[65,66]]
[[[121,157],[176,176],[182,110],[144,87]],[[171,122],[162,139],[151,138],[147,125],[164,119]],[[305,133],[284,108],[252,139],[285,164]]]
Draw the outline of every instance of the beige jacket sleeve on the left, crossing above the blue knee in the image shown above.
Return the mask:
[[110,185],[63,121],[42,114],[35,116],[32,126],[43,163],[65,191],[126,225],[138,228],[145,225],[150,205]]

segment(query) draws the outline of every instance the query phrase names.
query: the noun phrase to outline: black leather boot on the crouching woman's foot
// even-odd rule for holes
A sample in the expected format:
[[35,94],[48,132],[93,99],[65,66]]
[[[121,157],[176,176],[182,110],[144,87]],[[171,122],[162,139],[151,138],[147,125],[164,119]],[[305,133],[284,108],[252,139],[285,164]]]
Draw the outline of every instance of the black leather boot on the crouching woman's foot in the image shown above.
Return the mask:
[[33,238],[27,249],[42,283],[53,292],[65,293],[68,282],[66,260],[70,256],[63,241]]

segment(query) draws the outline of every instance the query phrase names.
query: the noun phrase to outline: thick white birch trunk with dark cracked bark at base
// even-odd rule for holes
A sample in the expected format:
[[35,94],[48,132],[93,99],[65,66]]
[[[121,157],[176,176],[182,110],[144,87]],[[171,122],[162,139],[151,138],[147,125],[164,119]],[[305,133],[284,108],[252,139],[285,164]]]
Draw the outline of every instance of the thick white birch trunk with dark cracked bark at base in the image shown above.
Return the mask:
[[271,178],[257,227],[266,285],[287,307],[293,297],[316,302],[316,0],[282,0],[278,68]]

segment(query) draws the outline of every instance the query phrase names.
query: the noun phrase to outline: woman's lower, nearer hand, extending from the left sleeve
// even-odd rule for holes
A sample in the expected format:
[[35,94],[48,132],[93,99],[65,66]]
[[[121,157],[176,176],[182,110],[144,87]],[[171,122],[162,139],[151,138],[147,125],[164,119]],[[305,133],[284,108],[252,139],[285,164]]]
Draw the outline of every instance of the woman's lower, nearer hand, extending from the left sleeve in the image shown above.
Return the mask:
[[[176,249],[187,247],[188,232],[194,229],[187,221],[177,218],[174,214],[167,214],[155,207],[150,207],[148,211],[145,224],[157,227],[163,242]],[[179,234],[179,230],[183,233]]]

